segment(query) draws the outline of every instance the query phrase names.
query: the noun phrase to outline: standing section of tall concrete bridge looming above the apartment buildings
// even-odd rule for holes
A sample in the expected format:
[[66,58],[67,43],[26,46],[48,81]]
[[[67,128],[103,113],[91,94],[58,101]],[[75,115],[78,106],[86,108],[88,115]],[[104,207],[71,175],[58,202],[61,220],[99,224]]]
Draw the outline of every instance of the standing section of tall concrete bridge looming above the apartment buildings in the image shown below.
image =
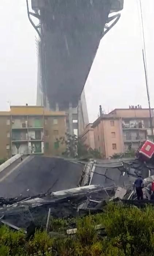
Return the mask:
[[[68,113],[68,132],[88,124],[84,85],[100,40],[120,18],[123,0],[31,0],[37,31],[37,104]],[[38,25],[32,21],[38,18]],[[73,120],[78,120],[74,123]]]

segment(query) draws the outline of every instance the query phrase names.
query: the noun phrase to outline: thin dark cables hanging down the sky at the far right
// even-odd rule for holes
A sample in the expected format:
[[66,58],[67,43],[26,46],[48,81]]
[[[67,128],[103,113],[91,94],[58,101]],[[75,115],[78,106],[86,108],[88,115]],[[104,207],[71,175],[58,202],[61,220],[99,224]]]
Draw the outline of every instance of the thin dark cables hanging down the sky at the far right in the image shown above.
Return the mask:
[[147,98],[148,98],[148,104],[149,104],[149,112],[150,112],[150,128],[151,128],[151,136],[152,140],[154,141],[154,133],[153,133],[153,122],[151,117],[151,106],[150,106],[150,95],[149,95],[149,84],[148,84],[148,75],[147,75],[147,62],[146,62],[146,47],[145,47],[145,34],[144,34],[144,26],[143,26],[143,14],[142,14],[142,4],[141,0],[139,0],[140,3],[140,13],[141,13],[141,20],[142,20],[142,34],[143,34],[143,48],[142,54],[143,54],[143,64],[145,69],[145,78],[146,78],[146,90],[147,90]]

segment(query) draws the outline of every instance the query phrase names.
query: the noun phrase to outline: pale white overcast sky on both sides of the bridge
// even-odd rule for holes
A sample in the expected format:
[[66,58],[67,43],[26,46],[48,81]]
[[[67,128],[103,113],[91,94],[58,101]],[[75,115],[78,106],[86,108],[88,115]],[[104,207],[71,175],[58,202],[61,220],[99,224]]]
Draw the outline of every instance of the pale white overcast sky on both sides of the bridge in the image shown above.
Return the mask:
[[[151,106],[154,107],[154,1],[142,0]],[[26,0],[0,0],[0,110],[35,105],[37,56],[35,30],[27,17]],[[85,85],[89,121],[102,105],[147,107],[137,0],[124,0],[119,22],[102,39]]]

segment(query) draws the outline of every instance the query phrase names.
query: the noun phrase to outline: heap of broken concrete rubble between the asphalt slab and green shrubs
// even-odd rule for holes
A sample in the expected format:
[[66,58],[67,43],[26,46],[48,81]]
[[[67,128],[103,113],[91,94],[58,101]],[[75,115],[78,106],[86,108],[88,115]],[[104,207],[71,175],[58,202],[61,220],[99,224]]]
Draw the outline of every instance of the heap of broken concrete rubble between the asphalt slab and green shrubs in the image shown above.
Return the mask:
[[[29,232],[31,225],[46,225],[49,209],[50,216],[54,218],[73,218],[103,212],[104,206],[111,200],[120,200],[136,206],[154,203],[150,200],[148,191],[148,185],[154,181],[154,164],[150,158],[143,158],[141,151],[142,148],[139,148],[138,158],[131,160],[70,160],[71,164],[80,164],[80,168],[82,166],[80,180],[75,188],[59,191],[47,189],[46,193],[41,195],[1,197],[1,222],[14,229],[22,228]],[[142,175],[145,184],[142,202],[136,200],[133,189],[134,181],[139,175]]]

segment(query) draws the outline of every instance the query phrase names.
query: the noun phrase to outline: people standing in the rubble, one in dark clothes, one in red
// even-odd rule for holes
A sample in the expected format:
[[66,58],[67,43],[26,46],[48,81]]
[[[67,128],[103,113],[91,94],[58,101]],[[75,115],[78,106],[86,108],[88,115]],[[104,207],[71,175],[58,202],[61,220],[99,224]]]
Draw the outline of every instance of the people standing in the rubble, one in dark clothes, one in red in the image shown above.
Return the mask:
[[[134,189],[136,189],[136,195],[138,200],[143,199],[143,190],[142,190],[143,188],[144,188],[143,178],[141,175],[139,175],[134,182]],[[149,185],[147,185],[146,189],[149,192],[150,199],[154,200],[154,181]]]

